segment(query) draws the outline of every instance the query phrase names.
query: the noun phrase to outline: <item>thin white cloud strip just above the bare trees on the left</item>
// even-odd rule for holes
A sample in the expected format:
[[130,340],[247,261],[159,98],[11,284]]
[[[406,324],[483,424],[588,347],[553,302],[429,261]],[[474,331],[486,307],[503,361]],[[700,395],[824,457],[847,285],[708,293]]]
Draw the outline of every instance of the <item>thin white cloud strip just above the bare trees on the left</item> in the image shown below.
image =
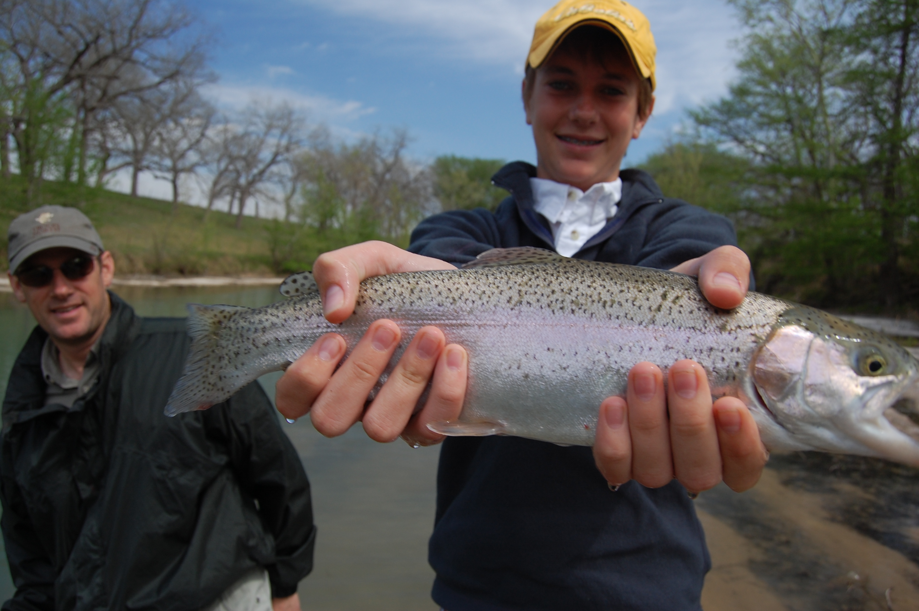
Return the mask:
[[309,115],[311,121],[349,121],[376,112],[375,107],[366,107],[356,100],[336,100],[327,96],[310,96],[284,87],[264,85],[209,85],[205,89],[218,105],[239,109],[254,99],[274,103],[287,102]]

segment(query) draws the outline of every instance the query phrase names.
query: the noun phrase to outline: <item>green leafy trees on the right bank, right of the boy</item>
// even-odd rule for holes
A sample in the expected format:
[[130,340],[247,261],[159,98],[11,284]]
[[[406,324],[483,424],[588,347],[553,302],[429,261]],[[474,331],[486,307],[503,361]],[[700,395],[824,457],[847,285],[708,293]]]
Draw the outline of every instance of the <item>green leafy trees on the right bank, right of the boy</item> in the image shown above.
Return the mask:
[[822,307],[919,303],[919,1],[729,0],[724,98],[644,164],[727,214],[758,288]]

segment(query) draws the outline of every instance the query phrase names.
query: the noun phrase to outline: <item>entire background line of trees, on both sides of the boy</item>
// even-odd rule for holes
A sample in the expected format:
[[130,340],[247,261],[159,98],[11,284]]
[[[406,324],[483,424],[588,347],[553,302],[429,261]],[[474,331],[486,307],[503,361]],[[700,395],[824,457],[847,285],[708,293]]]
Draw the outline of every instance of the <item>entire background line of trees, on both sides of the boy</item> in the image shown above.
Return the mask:
[[[732,218],[758,288],[822,307],[919,302],[919,0],[728,0],[743,25],[729,94],[644,167]],[[278,271],[317,249],[404,244],[426,214],[494,208],[500,160],[406,155],[404,130],[335,139],[294,108],[221,112],[210,40],[165,0],[0,2],[0,173],[104,185],[193,177],[212,209],[272,215]]]

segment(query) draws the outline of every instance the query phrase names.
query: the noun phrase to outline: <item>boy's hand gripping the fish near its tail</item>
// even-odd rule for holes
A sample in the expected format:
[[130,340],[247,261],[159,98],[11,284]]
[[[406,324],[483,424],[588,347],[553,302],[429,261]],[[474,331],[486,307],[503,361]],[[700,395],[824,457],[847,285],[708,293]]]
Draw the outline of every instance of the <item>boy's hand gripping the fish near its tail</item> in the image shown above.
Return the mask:
[[[325,318],[343,322],[354,311],[361,280],[435,269],[456,269],[430,257],[413,255],[384,242],[347,246],[316,259],[313,277],[323,296]],[[325,334],[278,379],[278,412],[288,418],[310,413],[312,424],[324,436],[339,436],[357,421],[371,438],[389,442],[403,436],[411,445],[429,446],[443,440],[427,428],[430,422],[456,420],[466,394],[468,358],[459,345],[445,345],[443,332],[425,327],[415,334],[402,359],[376,398],[365,410],[367,395],[376,385],[402,339],[395,322],[370,325],[345,363],[345,339]],[[414,406],[431,380],[431,392],[421,412]]]

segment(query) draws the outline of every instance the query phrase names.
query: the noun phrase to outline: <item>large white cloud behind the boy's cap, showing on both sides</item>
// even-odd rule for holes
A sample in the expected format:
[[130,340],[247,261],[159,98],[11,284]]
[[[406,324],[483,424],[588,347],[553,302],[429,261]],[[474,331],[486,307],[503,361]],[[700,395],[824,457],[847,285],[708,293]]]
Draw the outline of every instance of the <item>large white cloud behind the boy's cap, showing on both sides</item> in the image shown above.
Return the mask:
[[[533,24],[551,0],[293,0],[342,17],[385,23],[431,54],[522,72]],[[726,91],[738,35],[723,0],[640,0],[657,42],[656,113],[679,111]]]

